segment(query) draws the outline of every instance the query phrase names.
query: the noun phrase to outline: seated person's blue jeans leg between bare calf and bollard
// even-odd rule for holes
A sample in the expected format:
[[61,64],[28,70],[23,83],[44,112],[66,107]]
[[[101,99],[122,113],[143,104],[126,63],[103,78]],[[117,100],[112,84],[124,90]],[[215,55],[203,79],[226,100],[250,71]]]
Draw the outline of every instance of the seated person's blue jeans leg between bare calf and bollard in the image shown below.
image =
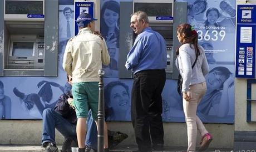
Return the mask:
[[92,149],[97,150],[97,126],[95,121],[92,119],[92,112],[89,110],[87,118],[87,134],[85,139],[85,145]]

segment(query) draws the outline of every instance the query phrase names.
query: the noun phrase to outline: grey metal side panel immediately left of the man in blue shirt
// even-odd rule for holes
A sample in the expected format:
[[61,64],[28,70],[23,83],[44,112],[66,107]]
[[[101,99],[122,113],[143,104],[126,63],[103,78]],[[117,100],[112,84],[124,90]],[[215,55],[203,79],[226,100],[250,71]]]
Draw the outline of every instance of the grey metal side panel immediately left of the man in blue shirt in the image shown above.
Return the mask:
[[126,56],[132,47],[131,13],[132,2],[120,2],[119,78],[132,78],[131,70],[127,71],[125,68]]

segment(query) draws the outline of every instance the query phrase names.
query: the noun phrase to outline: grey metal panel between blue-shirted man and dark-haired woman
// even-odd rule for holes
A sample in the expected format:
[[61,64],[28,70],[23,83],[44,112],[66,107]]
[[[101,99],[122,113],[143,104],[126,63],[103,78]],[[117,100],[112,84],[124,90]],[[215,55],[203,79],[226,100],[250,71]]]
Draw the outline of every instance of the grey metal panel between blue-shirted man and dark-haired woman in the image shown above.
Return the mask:
[[177,27],[181,23],[186,23],[187,19],[187,7],[188,4],[186,2],[174,2],[174,21],[173,21],[173,79],[178,79],[179,71],[175,66],[176,53],[175,49],[180,45],[179,40],[177,38]]

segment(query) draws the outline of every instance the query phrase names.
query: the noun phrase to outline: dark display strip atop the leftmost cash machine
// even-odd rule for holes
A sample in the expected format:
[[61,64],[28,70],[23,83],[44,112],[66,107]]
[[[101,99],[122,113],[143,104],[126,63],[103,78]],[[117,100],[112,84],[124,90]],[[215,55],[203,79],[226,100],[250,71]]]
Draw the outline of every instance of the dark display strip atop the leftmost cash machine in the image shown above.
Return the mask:
[[6,1],[6,14],[43,14],[43,1]]

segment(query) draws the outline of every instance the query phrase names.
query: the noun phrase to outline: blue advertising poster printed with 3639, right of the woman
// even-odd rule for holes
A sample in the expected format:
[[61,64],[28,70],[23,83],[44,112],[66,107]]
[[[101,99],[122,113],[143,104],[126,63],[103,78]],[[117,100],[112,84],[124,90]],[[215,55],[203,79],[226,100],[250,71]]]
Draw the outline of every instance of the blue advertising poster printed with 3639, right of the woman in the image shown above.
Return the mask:
[[236,1],[178,2],[188,2],[188,23],[198,32],[210,68],[198,116],[208,123],[234,123]]

